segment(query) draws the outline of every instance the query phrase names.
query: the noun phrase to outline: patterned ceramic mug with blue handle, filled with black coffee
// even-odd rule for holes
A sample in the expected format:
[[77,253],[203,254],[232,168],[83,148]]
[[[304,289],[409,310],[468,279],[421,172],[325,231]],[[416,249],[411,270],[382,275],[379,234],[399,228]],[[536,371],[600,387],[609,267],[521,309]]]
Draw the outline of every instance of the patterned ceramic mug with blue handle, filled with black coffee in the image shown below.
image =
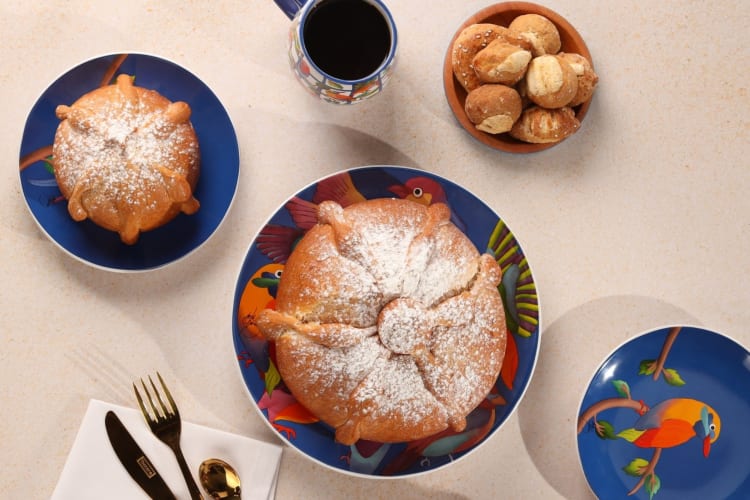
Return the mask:
[[381,0],[274,0],[292,20],[289,64],[314,96],[354,104],[379,94],[396,56],[396,25]]

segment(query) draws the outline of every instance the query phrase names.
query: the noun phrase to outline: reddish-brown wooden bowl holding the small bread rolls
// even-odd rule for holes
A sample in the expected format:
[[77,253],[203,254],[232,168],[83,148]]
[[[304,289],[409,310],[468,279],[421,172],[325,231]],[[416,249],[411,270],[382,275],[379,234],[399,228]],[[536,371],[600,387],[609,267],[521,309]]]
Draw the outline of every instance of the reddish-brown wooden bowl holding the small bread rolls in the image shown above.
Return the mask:
[[[546,7],[537,5],[529,2],[502,2],[489,7],[485,7],[459,26],[456,30],[455,35],[451,39],[448,51],[445,55],[445,63],[443,66],[443,85],[445,87],[445,96],[448,99],[448,104],[453,110],[453,114],[456,115],[461,126],[474,138],[480,142],[486,144],[500,151],[506,151],[509,153],[534,153],[549,149],[560,142],[553,142],[547,144],[531,144],[523,141],[514,139],[509,134],[488,134],[478,130],[473,123],[469,121],[464,111],[464,103],[466,102],[466,90],[453,76],[453,68],[451,64],[451,51],[453,49],[453,43],[455,42],[458,35],[469,25],[479,23],[491,23],[498,24],[501,26],[508,26],[510,22],[516,17],[522,14],[539,14],[550,21],[552,21],[557,30],[560,32],[560,42],[562,52],[574,52],[587,58],[593,66],[591,54],[589,49],[586,47],[586,43],[581,38],[581,35],[575,30],[575,28],[566,21],[562,16],[556,12],[551,11]],[[576,113],[576,117],[579,121],[583,122],[583,118],[586,116],[586,112],[591,104],[591,99],[573,108]]]

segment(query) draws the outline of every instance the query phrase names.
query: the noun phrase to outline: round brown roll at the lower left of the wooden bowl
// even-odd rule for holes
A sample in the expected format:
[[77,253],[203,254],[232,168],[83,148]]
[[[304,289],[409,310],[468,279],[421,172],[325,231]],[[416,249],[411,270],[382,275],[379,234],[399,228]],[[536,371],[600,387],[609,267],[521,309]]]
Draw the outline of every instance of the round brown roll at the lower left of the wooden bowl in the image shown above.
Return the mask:
[[512,87],[488,83],[466,96],[466,116],[476,127],[490,134],[502,134],[521,116],[521,96]]

